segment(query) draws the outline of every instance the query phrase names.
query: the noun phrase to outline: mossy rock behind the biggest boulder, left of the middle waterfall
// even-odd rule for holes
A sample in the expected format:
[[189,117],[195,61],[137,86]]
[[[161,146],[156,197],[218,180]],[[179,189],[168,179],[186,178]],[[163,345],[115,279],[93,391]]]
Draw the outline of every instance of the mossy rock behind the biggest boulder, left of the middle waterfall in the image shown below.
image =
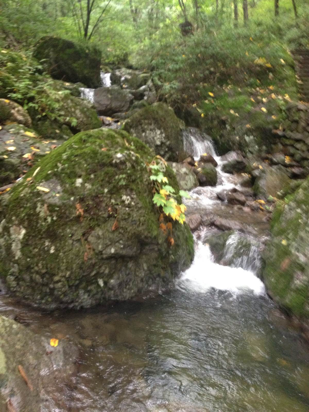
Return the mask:
[[179,121],[165,103],[155,103],[131,116],[124,130],[149,145],[156,155],[172,162],[183,152],[183,138]]

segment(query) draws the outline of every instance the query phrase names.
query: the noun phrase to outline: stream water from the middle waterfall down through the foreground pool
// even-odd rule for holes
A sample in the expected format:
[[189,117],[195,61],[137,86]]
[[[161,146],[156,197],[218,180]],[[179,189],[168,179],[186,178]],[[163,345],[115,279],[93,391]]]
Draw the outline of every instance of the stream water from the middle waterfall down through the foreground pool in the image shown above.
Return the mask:
[[[195,157],[215,156],[211,140],[186,133]],[[237,187],[216,159],[219,185],[193,190],[192,211],[227,208],[215,193]],[[209,230],[197,233],[194,262],[176,287],[155,298],[44,313],[0,297],[0,313],[79,349],[75,373],[50,388],[49,411],[308,412],[308,348],[255,276],[258,245],[235,259],[243,234],[234,234],[229,266],[218,265],[203,241]]]

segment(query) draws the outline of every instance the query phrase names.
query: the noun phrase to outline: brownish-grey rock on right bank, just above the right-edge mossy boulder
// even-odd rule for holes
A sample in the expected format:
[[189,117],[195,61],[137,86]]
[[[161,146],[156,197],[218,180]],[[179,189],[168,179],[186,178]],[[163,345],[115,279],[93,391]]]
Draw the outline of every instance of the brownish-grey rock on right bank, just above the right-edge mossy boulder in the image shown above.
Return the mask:
[[253,192],[258,197],[267,199],[269,196],[277,197],[277,193],[290,182],[286,169],[281,166],[264,165],[259,176],[255,179]]

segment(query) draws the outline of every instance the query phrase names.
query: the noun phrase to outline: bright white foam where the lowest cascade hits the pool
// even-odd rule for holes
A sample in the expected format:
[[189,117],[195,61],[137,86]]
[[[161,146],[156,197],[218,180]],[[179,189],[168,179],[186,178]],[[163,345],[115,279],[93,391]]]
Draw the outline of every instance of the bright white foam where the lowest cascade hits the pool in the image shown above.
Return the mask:
[[248,291],[256,295],[265,294],[264,284],[252,272],[214,263],[209,246],[199,241],[196,242],[194,261],[180,281],[185,281],[187,288],[201,293],[215,288],[229,290],[233,294]]

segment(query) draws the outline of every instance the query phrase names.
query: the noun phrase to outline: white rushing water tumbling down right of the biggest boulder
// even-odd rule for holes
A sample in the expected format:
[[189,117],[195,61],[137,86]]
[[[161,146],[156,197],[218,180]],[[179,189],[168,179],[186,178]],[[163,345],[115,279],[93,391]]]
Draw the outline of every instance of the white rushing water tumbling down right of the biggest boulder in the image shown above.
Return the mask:
[[[222,171],[221,158],[216,155],[215,148],[211,138],[195,128],[187,128],[183,132],[185,150],[191,152],[194,159],[208,153],[214,157],[218,163],[218,185],[215,187],[197,187],[190,192],[191,199],[186,201],[187,206],[206,206],[211,208],[215,204],[222,203],[217,193],[222,190],[231,190],[237,188],[235,177]],[[207,232],[205,229],[205,233]],[[232,259],[235,248],[239,244],[241,234],[233,234],[229,237],[225,250],[225,260],[231,266],[222,266],[213,262],[211,250],[207,244],[195,239],[195,257],[189,269],[183,274],[181,281],[187,281],[187,286],[204,292],[211,288],[218,290],[229,290],[233,294],[245,293],[248,290],[253,291],[256,295],[265,294],[264,284],[257,276],[255,271],[258,269],[259,255],[258,247],[253,244],[247,254],[240,255],[236,260]],[[238,266],[238,267],[237,267]],[[247,270],[242,269],[245,267]]]

